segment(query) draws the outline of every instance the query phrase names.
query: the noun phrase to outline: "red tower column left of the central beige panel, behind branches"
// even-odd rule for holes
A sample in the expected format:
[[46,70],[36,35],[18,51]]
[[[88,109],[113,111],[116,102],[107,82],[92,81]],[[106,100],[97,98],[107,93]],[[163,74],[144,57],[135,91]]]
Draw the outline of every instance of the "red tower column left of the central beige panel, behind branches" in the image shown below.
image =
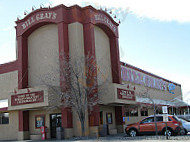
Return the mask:
[[[58,38],[59,38],[59,63],[60,63],[60,87],[62,91],[66,91],[67,83],[63,74],[63,61],[69,58],[69,38],[68,38],[68,24],[61,22],[58,24]],[[62,127],[72,128],[72,112],[71,108],[62,108]]]

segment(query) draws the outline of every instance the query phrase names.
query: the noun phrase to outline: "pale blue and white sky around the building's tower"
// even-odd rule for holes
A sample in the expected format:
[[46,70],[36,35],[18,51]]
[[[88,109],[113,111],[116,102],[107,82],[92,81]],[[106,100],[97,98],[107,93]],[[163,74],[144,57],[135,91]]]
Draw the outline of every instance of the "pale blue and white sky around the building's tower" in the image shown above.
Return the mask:
[[[15,60],[14,29],[18,15],[32,6],[88,5],[112,9],[119,26],[121,61],[182,85],[190,91],[190,10],[188,0],[17,0],[0,1],[0,64]],[[171,4],[172,3],[172,4]],[[114,15],[114,14],[113,14]],[[187,97],[185,97],[187,99]]]

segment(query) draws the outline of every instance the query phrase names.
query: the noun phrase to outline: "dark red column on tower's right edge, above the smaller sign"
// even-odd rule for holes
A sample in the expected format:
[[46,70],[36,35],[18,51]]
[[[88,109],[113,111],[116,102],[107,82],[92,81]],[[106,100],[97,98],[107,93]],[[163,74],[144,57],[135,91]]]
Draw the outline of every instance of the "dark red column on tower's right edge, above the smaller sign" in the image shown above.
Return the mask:
[[110,38],[110,54],[111,54],[111,66],[112,66],[112,78],[113,83],[121,83],[121,69],[119,58],[119,44],[117,37]]

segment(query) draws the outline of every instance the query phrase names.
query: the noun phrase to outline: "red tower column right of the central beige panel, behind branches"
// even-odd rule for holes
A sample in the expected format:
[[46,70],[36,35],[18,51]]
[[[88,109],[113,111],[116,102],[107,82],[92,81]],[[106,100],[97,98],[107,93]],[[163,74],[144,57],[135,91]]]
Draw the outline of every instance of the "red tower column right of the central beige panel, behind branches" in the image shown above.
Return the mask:
[[[94,39],[94,25],[87,23],[83,25],[84,29],[84,52],[85,57],[93,58],[93,65],[96,66],[96,55],[95,55],[95,39]],[[96,67],[95,67],[96,68]],[[95,77],[94,77],[95,76]],[[97,84],[97,69],[94,70],[92,76],[87,76],[88,82],[90,80],[91,85]],[[88,85],[88,84],[87,84]],[[94,94],[97,93],[97,88],[94,89]],[[93,94],[92,94],[93,95]],[[98,101],[98,97],[96,98]],[[99,106],[98,104],[93,107],[92,112],[89,115],[89,125],[99,126]]]

